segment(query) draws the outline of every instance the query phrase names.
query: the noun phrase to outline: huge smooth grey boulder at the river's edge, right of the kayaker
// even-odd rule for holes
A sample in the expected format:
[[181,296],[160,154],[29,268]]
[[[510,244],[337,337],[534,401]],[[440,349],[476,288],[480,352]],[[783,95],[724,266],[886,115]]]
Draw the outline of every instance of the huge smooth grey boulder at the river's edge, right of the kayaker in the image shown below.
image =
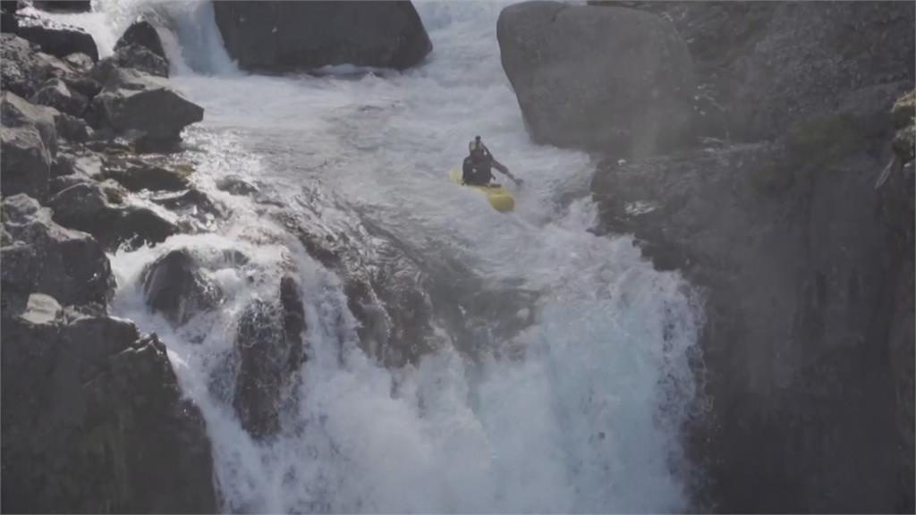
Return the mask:
[[503,9],[496,36],[535,141],[648,156],[690,139],[693,64],[660,16],[525,2]]

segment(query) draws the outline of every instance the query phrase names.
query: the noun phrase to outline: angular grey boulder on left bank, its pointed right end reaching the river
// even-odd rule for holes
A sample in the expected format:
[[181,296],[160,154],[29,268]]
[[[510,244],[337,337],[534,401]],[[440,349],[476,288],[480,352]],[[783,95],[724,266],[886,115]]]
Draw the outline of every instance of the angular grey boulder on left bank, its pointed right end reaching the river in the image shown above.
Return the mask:
[[131,139],[175,140],[181,129],[203,119],[203,108],[169,82],[136,70],[114,70],[93,98],[98,123]]

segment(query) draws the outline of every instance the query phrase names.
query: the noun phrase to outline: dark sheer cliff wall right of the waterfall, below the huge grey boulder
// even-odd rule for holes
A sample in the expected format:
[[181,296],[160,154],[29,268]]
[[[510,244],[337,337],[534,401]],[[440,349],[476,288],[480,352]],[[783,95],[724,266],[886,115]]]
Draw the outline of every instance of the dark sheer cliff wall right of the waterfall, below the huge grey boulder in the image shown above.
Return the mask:
[[714,405],[692,452],[718,510],[911,506],[888,343],[898,253],[869,128],[837,114],[775,142],[608,159],[594,176],[605,227],[708,293]]

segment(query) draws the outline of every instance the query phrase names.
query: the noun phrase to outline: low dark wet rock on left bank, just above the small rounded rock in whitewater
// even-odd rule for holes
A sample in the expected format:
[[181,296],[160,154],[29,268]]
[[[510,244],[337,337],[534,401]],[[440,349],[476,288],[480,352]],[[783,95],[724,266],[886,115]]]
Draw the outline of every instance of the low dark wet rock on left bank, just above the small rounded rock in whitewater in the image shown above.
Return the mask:
[[58,224],[84,231],[103,247],[161,243],[179,232],[178,227],[152,210],[133,205],[113,205],[103,184],[82,181],[58,192],[48,205]]

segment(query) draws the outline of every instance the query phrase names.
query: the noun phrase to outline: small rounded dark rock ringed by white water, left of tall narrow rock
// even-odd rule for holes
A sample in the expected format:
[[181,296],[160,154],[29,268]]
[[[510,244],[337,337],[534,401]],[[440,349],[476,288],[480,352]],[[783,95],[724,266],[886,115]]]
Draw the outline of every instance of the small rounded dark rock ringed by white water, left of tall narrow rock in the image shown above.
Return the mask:
[[219,287],[204,277],[200,265],[185,249],[172,250],[147,268],[143,292],[149,307],[175,325],[212,310],[222,300]]

